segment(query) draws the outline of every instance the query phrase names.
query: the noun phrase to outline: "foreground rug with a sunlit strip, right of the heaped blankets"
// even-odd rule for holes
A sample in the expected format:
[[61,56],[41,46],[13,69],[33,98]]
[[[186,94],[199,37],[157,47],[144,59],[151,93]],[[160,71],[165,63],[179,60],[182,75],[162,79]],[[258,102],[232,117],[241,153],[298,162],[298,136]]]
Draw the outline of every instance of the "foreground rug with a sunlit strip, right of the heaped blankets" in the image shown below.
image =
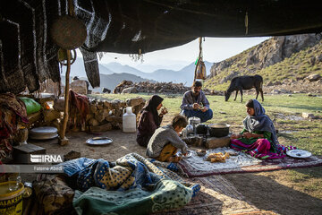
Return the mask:
[[194,177],[190,183],[201,185],[201,190],[182,209],[154,213],[154,215],[206,215],[206,214],[275,214],[263,213],[246,202],[242,193],[223,176]]

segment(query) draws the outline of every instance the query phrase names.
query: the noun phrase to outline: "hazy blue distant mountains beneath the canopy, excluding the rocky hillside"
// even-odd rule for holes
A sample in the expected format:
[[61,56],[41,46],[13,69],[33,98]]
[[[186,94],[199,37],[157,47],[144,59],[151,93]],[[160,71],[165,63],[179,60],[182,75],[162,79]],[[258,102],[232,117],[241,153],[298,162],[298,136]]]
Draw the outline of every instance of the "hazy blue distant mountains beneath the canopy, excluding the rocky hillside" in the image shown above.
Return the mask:
[[[205,62],[207,74],[210,73],[212,63]],[[145,66],[148,66],[146,64]],[[153,65],[150,66],[151,68]],[[169,65],[165,66],[170,67]],[[174,67],[178,67],[175,65]],[[182,82],[186,86],[191,86],[193,82],[195,64],[191,63],[184,66],[181,70],[170,69],[157,69],[153,73],[145,73],[137,68],[131,67],[127,64],[109,63],[98,64],[100,73],[100,87],[94,89],[94,91],[101,91],[103,87],[114,90],[115,86],[123,80],[132,82]],[[82,80],[88,80],[85,72],[85,67],[82,58],[78,57],[71,68],[71,78],[78,76]]]

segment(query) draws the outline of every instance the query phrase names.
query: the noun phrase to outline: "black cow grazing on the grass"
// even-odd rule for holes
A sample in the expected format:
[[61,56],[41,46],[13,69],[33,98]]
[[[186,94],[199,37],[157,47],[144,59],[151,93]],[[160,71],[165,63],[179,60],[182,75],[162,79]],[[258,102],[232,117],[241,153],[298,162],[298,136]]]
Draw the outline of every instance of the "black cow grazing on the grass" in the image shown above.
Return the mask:
[[[236,96],[235,99],[237,98],[238,91],[241,91],[241,97],[242,97],[242,90],[250,90],[252,88],[256,89],[256,99],[258,99],[258,94],[260,92],[260,95],[262,97],[262,101],[264,101],[264,96],[263,96],[263,78],[262,76],[256,74],[254,76],[250,75],[243,75],[239,77],[234,77],[228,90],[225,91],[225,101],[227,101],[232,94],[234,90],[236,90]],[[242,102],[242,99],[241,99]]]

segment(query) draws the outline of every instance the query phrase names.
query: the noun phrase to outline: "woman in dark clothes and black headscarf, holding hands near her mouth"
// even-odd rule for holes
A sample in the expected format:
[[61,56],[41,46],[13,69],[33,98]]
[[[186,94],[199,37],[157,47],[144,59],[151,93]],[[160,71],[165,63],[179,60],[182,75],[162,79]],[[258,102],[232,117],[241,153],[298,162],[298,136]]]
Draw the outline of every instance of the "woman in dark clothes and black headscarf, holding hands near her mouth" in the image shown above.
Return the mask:
[[162,107],[162,101],[161,97],[154,95],[148,99],[147,104],[140,111],[137,133],[137,142],[140,146],[147,147],[149,139],[160,126],[163,116],[167,113],[166,109],[163,109],[160,115],[157,113]]

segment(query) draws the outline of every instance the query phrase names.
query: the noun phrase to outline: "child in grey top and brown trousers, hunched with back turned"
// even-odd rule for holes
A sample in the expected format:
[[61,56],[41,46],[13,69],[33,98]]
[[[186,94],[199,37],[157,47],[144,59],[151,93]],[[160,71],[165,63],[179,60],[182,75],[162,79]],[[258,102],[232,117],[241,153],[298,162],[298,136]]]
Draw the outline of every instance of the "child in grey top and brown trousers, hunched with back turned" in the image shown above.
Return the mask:
[[179,162],[181,157],[175,157],[177,150],[181,149],[182,154],[186,154],[188,149],[179,137],[187,124],[184,116],[174,116],[171,125],[157,128],[148,142],[148,157],[162,162]]

